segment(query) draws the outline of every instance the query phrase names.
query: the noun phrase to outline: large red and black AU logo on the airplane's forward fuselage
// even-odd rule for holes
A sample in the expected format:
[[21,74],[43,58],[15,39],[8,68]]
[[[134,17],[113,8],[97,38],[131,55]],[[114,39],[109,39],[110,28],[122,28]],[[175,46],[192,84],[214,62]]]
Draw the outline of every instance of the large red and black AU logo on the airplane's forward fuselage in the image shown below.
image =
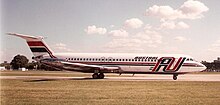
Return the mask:
[[[154,66],[152,72],[158,72],[163,68],[164,72],[178,71],[185,61],[185,57],[180,57],[177,61],[174,57],[161,57]],[[176,62],[175,62],[176,61]]]

